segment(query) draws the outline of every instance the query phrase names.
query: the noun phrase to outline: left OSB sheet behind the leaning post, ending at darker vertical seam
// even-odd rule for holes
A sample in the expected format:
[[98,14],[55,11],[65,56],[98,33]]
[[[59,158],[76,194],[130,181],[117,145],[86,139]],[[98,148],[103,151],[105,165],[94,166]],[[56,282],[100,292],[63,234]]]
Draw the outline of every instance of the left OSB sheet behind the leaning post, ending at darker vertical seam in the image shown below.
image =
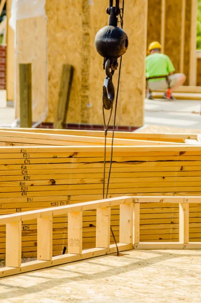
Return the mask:
[[67,121],[81,121],[82,6],[81,1],[47,0],[48,17],[48,119],[54,122],[63,64],[74,66]]

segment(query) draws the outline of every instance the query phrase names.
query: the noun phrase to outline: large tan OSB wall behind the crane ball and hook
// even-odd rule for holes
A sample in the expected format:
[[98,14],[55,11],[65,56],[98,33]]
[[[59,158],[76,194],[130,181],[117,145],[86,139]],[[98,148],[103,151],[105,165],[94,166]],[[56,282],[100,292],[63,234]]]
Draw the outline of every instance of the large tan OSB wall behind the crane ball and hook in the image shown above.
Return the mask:
[[[107,0],[47,0],[49,40],[48,121],[55,119],[63,64],[75,72],[66,122],[103,124],[102,86],[105,72],[94,47],[97,31],[107,25]],[[147,0],[126,2],[124,29],[129,49],[123,57],[116,123],[143,125]],[[117,72],[113,77],[117,86]],[[112,121],[111,121],[112,123]]]

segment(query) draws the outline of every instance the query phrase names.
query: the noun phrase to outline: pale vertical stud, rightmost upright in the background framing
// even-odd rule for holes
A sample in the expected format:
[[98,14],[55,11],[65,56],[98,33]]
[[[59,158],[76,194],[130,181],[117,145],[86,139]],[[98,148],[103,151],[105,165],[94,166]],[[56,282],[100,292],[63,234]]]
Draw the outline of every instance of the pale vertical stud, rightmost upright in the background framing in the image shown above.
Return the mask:
[[196,85],[197,0],[191,0],[190,85]]

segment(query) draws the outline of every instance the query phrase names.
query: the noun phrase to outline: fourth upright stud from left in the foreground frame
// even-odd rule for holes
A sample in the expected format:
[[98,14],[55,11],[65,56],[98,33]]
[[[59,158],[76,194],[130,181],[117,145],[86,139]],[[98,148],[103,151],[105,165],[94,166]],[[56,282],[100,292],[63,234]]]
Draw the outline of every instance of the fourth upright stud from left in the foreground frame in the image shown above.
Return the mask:
[[109,248],[111,208],[98,208],[96,214],[96,247]]

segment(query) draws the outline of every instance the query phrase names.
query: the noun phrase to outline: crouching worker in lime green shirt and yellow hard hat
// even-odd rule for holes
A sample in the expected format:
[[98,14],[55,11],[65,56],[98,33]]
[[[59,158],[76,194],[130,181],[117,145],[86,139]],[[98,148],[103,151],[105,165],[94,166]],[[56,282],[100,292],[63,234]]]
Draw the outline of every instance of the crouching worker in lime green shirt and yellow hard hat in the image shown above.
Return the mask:
[[[185,82],[186,76],[181,73],[173,74],[175,68],[170,58],[161,53],[161,49],[162,46],[157,41],[152,42],[148,47],[149,55],[146,57],[146,78],[157,76],[160,78],[148,80],[147,98],[153,99],[152,90],[164,90],[163,98],[174,100],[172,92]],[[161,76],[166,76],[166,78],[162,78]],[[170,81],[170,84],[168,84],[168,81]],[[170,88],[169,96],[167,95],[168,88]]]

